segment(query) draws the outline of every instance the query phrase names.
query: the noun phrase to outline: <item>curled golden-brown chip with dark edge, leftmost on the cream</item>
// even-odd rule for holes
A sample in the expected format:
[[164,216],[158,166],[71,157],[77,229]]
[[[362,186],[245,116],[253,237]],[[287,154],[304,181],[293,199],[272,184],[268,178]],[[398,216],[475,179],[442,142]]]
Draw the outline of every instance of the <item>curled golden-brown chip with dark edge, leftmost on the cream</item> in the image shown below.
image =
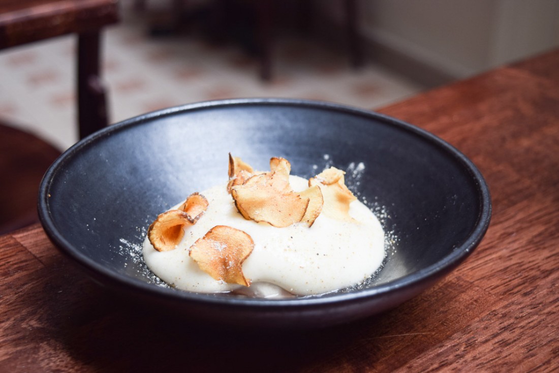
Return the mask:
[[157,251],[171,251],[181,242],[185,225],[190,223],[184,211],[170,210],[159,214],[148,228],[149,242]]

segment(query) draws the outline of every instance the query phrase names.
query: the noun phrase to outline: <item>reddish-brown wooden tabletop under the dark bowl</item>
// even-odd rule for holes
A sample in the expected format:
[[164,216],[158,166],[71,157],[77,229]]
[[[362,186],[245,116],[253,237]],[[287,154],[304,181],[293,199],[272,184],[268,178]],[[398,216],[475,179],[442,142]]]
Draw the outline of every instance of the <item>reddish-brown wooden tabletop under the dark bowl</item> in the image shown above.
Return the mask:
[[559,369],[559,50],[381,111],[484,174],[493,217],[433,289],[350,325],[285,334],[176,327],[68,263],[39,225],[0,237],[0,371]]

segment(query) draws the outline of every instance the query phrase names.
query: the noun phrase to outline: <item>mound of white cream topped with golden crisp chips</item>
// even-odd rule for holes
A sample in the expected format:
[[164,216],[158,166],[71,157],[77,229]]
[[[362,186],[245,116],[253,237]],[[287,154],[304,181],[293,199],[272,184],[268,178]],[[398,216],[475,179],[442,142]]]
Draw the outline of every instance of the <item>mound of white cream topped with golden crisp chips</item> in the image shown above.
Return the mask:
[[159,214],[143,258],[177,289],[254,297],[318,295],[359,285],[385,258],[376,216],[335,167],[305,178],[273,157],[255,171],[229,154],[229,181]]

